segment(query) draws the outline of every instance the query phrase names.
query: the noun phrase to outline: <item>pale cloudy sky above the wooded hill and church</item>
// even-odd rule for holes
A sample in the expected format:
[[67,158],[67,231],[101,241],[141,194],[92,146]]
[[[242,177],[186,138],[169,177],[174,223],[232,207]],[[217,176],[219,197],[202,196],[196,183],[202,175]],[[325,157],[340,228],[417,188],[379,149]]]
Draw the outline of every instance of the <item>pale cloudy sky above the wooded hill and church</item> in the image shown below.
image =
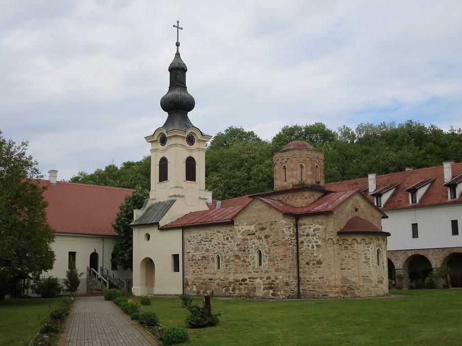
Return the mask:
[[58,179],[149,153],[177,19],[193,124],[462,127],[462,2],[0,0],[0,130]]

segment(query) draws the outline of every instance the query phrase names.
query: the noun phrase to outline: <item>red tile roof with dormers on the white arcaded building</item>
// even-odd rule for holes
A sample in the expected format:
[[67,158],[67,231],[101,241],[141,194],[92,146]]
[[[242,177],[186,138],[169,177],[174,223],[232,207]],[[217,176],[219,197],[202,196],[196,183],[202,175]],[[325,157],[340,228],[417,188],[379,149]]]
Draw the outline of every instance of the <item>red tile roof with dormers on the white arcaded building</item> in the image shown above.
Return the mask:
[[[455,177],[462,174],[462,162],[452,164],[452,176]],[[417,204],[409,204],[409,192],[405,191],[406,188],[416,185],[418,182],[427,179],[435,180],[432,182],[424,196],[422,196]],[[411,171],[396,172],[389,174],[382,174],[376,176],[377,190],[387,185],[396,185],[401,183],[394,194],[388,199],[386,205],[381,208],[382,210],[392,210],[401,208],[414,208],[415,206],[431,206],[442,203],[461,202],[462,195],[458,199],[448,199],[448,188],[444,186],[445,178],[442,166],[428,167],[415,169]],[[368,192],[368,178],[359,178],[352,180],[343,180],[338,182],[330,182],[325,185],[326,189],[334,191],[349,191],[349,190],[362,190],[364,197],[373,202],[373,197]]]

